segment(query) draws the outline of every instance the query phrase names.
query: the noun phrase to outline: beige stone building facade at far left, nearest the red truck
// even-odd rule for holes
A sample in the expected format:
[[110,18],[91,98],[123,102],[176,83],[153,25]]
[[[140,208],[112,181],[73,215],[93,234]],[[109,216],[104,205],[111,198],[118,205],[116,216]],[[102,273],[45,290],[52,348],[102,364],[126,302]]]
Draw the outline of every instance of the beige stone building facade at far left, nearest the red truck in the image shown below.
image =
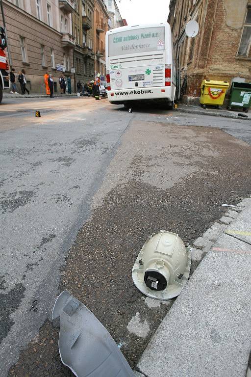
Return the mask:
[[74,0],[3,0],[2,3],[12,67],[16,73],[25,69],[27,87],[33,93],[45,93],[46,71],[53,75],[58,90],[62,73],[59,69],[65,67],[65,75],[73,77]]

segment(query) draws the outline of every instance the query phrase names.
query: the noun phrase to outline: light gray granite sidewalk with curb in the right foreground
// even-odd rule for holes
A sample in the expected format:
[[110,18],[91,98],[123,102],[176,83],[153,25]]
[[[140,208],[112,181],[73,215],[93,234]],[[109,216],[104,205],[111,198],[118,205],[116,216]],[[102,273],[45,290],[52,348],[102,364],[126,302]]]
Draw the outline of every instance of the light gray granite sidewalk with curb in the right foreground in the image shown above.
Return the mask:
[[136,376],[251,376],[251,199],[220,222],[196,240],[194,259],[206,255],[153,335]]

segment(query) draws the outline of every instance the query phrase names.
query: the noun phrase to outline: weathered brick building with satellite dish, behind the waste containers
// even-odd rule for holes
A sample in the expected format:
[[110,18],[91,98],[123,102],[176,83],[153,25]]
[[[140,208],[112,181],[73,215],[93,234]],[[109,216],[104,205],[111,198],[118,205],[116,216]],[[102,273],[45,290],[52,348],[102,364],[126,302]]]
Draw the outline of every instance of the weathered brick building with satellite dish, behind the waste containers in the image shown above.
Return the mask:
[[[194,38],[190,20],[200,27]],[[188,96],[200,95],[203,79],[251,81],[251,0],[171,0],[168,22]]]

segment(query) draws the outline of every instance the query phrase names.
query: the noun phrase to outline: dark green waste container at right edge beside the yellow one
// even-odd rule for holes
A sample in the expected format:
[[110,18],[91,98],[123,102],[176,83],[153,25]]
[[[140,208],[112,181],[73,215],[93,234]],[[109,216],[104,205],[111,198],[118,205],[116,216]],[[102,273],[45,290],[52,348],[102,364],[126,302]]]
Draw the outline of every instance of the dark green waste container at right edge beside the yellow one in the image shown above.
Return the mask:
[[242,108],[248,112],[251,107],[251,82],[233,81],[230,89],[230,102],[228,110],[231,108]]

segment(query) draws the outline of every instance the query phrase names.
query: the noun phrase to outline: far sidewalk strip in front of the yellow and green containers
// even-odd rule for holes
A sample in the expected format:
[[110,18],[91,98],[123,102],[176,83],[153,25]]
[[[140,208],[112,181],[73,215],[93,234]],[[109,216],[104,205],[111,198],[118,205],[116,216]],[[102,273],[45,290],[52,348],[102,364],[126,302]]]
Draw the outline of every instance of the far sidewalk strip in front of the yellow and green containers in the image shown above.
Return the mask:
[[[201,114],[201,115],[213,115],[213,116],[221,116],[224,118],[231,118],[231,119],[246,119],[246,120],[251,120],[251,111],[249,112],[243,112],[241,110],[226,110],[226,109],[221,109],[218,110],[216,108],[201,108],[200,106],[195,106],[195,105],[183,105],[183,104],[178,104],[178,108],[176,111],[179,112],[186,112],[190,114]],[[241,117],[238,116],[238,114],[244,114],[248,115],[248,118],[246,117]]]

